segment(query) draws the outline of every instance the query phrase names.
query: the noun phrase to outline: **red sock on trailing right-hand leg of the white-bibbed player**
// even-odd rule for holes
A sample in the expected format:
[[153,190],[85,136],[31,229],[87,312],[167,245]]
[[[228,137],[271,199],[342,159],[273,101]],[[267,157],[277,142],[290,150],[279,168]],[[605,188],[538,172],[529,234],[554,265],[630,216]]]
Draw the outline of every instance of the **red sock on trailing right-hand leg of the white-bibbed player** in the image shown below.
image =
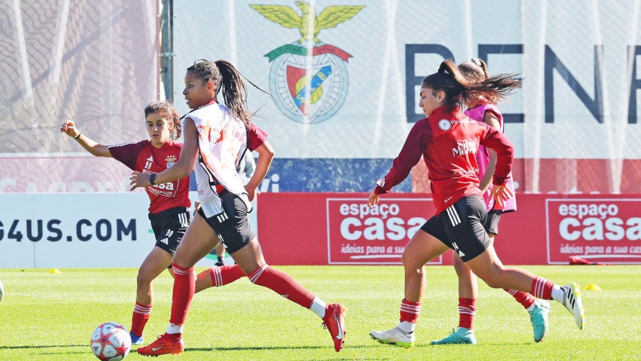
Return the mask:
[[278,293],[278,295],[305,308],[311,307],[312,301],[314,301],[314,294],[301,286],[296,279],[291,278],[285,272],[267,266],[267,264],[251,272],[249,280],[259,286],[267,287]]

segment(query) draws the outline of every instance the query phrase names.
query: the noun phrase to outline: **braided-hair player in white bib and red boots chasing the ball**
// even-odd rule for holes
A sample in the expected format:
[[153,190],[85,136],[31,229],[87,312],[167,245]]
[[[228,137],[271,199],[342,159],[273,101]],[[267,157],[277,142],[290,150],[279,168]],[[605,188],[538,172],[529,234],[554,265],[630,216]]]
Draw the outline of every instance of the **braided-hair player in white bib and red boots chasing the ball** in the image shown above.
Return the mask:
[[[225,105],[217,102],[219,92]],[[167,332],[138,349],[138,353],[147,356],[183,353],[183,326],[195,289],[194,265],[219,241],[253,284],[270,288],[321,317],[332,335],[334,349],[341,351],[345,340],[345,307],[326,304],[287,273],[271,268],[249,226],[250,201],[271,166],[273,149],[266,140],[260,145],[250,144],[247,132],[260,129],[251,122],[242,75],[225,60],[200,60],[187,68],[183,95],[192,111],[185,117],[185,143],[180,160],[159,174],[134,172],[131,184],[133,188],[148,187],[179,179],[190,174],[197,163],[201,208],[172,261],[174,293]],[[249,183],[244,184],[236,167],[247,149],[258,153],[258,161]]]

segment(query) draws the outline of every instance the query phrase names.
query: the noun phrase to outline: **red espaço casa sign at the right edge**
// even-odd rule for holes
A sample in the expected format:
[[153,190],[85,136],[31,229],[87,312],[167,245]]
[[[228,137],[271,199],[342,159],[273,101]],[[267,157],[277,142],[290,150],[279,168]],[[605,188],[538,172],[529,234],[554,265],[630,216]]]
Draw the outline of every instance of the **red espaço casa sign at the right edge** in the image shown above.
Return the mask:
[[607,263],[641,262],[641,199],[545,200],[548,263],[568,256]]

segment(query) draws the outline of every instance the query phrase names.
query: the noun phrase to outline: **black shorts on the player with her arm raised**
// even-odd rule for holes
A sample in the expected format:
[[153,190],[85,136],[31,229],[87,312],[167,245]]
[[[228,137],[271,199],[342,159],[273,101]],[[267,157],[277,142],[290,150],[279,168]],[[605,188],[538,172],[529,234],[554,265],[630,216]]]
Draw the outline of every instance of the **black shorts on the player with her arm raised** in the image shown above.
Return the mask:
[[152,221],[156,246],[173,255],[191,223],[192,214],[186,207],[173,207],[159,213],[150,213],[149,220]]

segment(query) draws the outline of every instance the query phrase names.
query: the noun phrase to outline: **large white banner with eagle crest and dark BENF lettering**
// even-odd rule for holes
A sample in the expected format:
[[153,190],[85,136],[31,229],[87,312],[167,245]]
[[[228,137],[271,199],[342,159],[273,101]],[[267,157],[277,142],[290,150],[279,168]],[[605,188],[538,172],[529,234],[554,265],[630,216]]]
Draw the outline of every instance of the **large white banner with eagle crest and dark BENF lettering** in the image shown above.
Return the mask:
[[[174,3],[174,99],[186,113],[181,89],[196,59],[228,59],[277,98],[250,94],[279,157],[393,158],[422,116],[422,77],[446,57],[480,56],[491,74],[525,78],[523,90],[500,104],[517,158],[640,159],[640,7],[616,0],[181,1]],[[309,35],[303,19],[312,12]]]

